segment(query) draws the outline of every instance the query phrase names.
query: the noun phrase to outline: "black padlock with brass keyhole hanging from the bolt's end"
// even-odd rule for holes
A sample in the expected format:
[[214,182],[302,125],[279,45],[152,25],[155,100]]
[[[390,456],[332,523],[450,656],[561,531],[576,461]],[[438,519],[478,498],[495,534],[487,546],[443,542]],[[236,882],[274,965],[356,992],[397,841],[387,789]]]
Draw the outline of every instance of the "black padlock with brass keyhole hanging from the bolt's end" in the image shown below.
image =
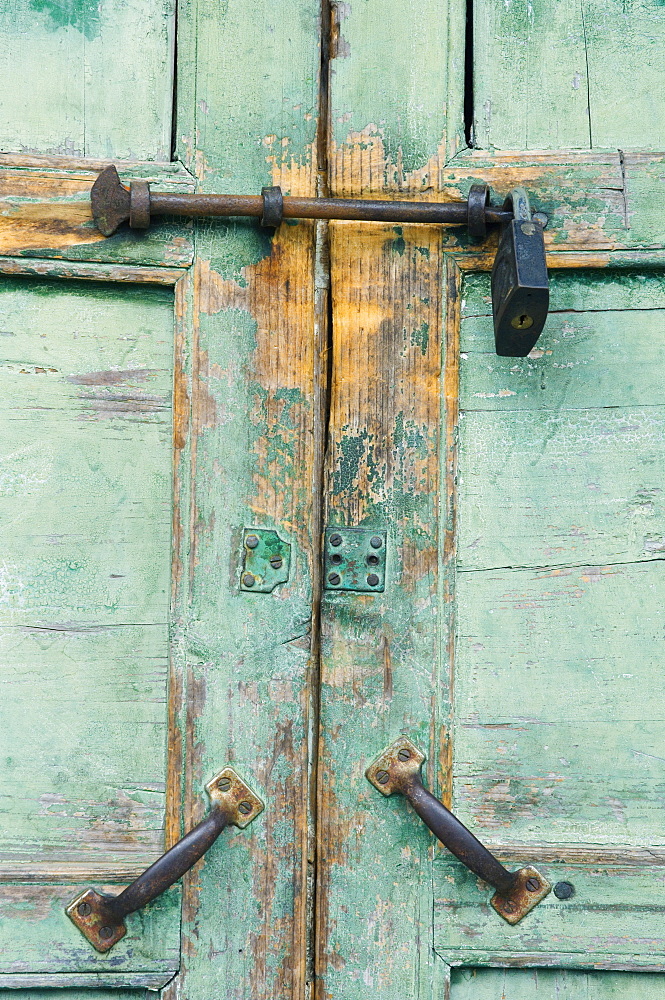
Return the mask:
[[529,198],[515,188],[506,200],[513,218],[503,226],[492,268],[496,353],[524,358],[540,336],[550,300],[543,227],[531,217]]

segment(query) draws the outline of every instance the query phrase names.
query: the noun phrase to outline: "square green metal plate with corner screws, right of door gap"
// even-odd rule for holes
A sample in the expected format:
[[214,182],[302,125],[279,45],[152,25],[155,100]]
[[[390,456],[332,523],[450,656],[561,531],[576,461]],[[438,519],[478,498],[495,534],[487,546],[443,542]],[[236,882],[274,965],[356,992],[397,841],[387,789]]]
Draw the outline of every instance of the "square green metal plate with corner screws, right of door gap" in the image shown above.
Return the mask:
[[385,530],[374,528],[326,528],[326,590],[382,593],[386,582],[386,535]]

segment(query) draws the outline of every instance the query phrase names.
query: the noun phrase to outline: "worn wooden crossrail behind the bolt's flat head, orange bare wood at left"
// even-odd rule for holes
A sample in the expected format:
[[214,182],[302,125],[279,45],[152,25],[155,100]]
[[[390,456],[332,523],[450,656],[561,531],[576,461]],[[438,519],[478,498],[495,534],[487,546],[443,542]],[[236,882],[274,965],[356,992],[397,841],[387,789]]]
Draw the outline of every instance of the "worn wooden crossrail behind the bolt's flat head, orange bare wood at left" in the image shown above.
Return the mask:
[[[109,160],[0,155],[0,254],[64,257],[110,264],[188,266],[191,223],[159,220],[148,233],[122,226],[104,237],[95,226],[90,188]],[[156,190],[192,191],[180,163],[118,163],[128,184],[143,179]]]

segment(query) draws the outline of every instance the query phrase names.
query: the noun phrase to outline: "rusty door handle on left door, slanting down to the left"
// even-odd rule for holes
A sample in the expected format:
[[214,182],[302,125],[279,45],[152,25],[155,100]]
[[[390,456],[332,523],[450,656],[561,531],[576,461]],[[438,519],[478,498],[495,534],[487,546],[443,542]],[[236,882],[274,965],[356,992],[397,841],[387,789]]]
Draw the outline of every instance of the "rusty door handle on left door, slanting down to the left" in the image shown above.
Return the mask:
[[232,767],[206,785],[212,800],[208,815],[166,854],[146,868],[118,896],[86,889],[65,912],[97,951],[109,951],[127,933],[125,917],[161,895],[199,861],[227,826],[246,827],[263,811],[263,802]]

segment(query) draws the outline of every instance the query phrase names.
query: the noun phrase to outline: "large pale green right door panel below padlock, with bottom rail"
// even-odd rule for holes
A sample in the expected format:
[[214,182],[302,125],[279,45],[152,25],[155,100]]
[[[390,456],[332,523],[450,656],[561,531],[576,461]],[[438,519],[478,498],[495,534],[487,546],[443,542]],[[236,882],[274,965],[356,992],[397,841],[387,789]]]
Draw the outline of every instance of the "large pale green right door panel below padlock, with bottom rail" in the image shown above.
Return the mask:
[[662,278],[556,275],[528,359],[493,355],[488,291],[462,292],[453,803],[513,861],[558,853],[545,874],[578,892],[497,927],[443,855],[437,950],[665,967],[662,869],[638,859],[663,847]]

